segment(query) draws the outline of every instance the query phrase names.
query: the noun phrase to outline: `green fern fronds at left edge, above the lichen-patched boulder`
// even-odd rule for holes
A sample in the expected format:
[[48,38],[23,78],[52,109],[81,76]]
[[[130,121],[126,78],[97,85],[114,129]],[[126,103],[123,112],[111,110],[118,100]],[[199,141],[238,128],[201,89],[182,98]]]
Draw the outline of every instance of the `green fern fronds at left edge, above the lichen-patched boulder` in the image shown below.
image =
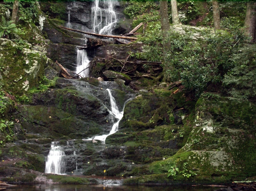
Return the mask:
[[0,38],[1,37],[8,37],[9,35],[25,35],[26,33],[20,29],[17,28],[15,23],[12,23],[13,21],[7,21],[5,17],[2,16],[2,20],[0,23]]

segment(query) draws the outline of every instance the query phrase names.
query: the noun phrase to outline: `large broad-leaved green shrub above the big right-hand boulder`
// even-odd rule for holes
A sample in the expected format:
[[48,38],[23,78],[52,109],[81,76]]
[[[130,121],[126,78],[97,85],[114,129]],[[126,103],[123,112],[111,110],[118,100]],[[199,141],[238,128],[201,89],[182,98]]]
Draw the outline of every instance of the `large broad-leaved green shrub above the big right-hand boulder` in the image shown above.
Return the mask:
[[[193,32],[201,37],[195,40]],[[199,97],[209,84],[222,82],[223,76],[236,65],[231,58],[246,40],[241,30],[218,31],[214,34],[204,29],[186,34],[170,30],[163,42],[159,25],[140,38],[146,45],[137,57],[162,61],[171,82],[182,80],[186,92]],[[164,47],[163,44],[168,46]]]

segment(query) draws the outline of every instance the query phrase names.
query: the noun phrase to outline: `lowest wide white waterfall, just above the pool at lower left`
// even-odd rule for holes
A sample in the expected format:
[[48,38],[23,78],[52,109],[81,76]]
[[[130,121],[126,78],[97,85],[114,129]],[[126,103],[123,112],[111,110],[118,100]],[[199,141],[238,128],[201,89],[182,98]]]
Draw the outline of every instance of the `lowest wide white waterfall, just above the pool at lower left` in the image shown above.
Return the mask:
[[57,146],[58,142],[52,142],[51,150],[47,156],[45,164],[45,173],[65,174],[65,156],[61,146]]

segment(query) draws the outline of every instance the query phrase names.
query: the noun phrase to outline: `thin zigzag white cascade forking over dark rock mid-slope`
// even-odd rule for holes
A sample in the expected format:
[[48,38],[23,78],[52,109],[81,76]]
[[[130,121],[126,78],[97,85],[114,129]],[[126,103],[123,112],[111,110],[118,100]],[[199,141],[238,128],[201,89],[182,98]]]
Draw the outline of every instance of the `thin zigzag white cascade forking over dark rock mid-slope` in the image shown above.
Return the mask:
[[[123,109],[124,109],[124,107],[123,107],[122,111],[120,112],[118,107],[117,107],[117,104],[116,104],[116,99],[111,94],[111,90],[110,89],[106,89],[106,90],[109,93],[110,105],[111,105],[111,111],[110,110],[108,110],[108,111],[109,111],[110,115],[112,115],[114,118],[117,118],[117,122],[113,124],[109,134],[94,136],[92,138],[86,139],[87,141],[100,140],[103,144],[105,144],[106,137],[108,137],[109,135],[112,135],[112,134],[114,134],[114,133],[116,133],[118,131],[118,125],[119,125],[119,122],[121,121],[121,119],[123,117]],[[125,104],[128,101],[130,101],[131,99],[133,99],[133,98],[128,99],[125,102]]]

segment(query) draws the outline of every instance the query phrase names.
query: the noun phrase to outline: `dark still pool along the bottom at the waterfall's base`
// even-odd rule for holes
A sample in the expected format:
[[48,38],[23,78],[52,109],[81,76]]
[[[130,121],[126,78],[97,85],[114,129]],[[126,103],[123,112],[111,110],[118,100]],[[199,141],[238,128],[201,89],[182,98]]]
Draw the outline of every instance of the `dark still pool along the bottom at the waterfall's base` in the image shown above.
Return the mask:
[[[39,186],[41,187],[39,188]],[[74,184],[26,184],[5,191],[214,191],[219,188],[207,186],[146,186],[146,185],[74,185]]]

